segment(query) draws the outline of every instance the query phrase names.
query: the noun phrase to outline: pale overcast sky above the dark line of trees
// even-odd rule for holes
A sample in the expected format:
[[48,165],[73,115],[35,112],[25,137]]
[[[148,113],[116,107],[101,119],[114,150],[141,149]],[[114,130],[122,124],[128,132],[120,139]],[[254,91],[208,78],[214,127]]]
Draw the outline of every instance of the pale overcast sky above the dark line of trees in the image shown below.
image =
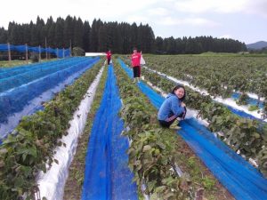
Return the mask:
[[155,36],[214,36],[246,44],[267,41],[267,0],[8,0],[0,27],[9,21],[36,22],[40,16],[150,24]]

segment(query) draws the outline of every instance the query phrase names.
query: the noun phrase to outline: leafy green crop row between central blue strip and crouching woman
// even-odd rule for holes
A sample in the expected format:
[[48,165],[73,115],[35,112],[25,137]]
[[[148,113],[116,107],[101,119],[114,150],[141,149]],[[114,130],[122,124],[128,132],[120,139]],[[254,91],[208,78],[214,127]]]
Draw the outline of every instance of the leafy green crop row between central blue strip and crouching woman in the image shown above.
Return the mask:
[[[115,69],[123,100],[121,116],[125,127],[129,128],[124,134],[131,140],[129,167],[134,172],[140,193],[145,184],[144,192],[150,195],[150,199],[193,199],[198,188],[206,187],[209,189],[205,191],[206,196],[212,196],[218,189],[214,188],[214,178],[203,176],[206,168],[196,163],[196,156],[185,157],[186,144],[177,134],[159,126],[156,108],[126,76],[125,71],[118,67],[117,61]],[[181,164],[186,171],[182,177],[172,170],[175,164]],[[207,182],[211,183],[210,186]]]

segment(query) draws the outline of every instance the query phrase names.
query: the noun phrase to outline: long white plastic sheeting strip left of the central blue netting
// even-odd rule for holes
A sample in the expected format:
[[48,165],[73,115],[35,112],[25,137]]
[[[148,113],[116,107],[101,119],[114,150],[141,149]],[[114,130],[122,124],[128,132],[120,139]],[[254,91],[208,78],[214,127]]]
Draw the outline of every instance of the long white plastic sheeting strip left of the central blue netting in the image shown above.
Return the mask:
[[55,148],[56,154],[54,159],[57,159],[59,164],[53,163],[46,173],[39,172],[38,174],[36,181],[39,185],[41,198],[46,197],[47,200],[61,200],[63,198],[65,183],[69,176],[69,165],[76,154],[77,140],[85,129],[87,115],[92,106],[103,68],[101,68],[98,76],[94,79],[93,84],[90,85],[85,94],[85,99],[81,101],[80,106],[73,115],[73,119],[69,122],[69,134],[61,139],[66,144],[66,147]]

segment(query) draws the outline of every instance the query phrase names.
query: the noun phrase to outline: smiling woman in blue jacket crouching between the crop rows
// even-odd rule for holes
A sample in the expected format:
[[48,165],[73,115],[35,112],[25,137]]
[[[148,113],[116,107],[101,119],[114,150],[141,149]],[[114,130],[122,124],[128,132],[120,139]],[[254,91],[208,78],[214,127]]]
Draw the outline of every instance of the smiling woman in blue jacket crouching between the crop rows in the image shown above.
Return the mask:
[[178,117],[184,119],[186,108],[183,100],[185,96],[186,92],[182,85],[176,85],[173,91],[166,96],[166,100],[158,110],[158,122],[161,126],[176,130],[181,128],[178,126],[179,122],[174,124],[174,121]]

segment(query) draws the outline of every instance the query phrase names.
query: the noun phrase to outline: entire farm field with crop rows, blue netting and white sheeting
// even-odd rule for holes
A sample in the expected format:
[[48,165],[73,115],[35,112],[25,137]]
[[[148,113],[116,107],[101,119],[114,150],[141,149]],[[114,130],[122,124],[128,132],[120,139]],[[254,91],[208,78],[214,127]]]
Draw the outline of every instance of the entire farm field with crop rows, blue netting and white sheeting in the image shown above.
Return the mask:
[[[144,59],[136,84],[125,55],[109,66],[75,57],[0,71],[0,198],[267,197],[265,119],[223,101],[264,114],[265,58]],[[188,115],[179,131],[161,128],[157,119],[174,78],[187,83]],[[12,132],[4,132],[7,124]]]

